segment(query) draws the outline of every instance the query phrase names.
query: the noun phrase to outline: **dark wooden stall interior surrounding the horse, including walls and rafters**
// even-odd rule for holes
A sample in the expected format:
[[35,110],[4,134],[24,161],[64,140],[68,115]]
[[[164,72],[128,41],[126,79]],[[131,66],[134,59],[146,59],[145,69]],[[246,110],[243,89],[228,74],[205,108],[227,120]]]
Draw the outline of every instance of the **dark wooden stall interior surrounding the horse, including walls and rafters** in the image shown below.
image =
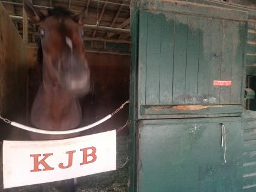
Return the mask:
[[[214,0],[217,1],[217,0]],[[130,93],[130,0],[33,0],[34,7],[43,13],[52,7],[61,6],[80,13],[88,10],[87,23],[83,37],[86,56],[91,70],[91,94],[83,98],[83,125],[93,123],[112,113],[129,99]],[[226,0],[228,4],[240,4],[256,9],[254,0]],[[255,25],[255,20],[252,22]],[[255,27],[255,26],[254,26]],[[37,89],[42,81],[42,69],[37,64],[38,26],[28,19],[23,10],[22,0],[0,1],[0,115],[10,120],[30,124],[30,109]],[[249,42],[250,43],[250,42]],[[251,42],[255,46],[255,42]],[[255,55],[254,55],[255,56]],[[250,80],[248,80],[250,81]],[[254,100],[250,101],[252,104]],[[252,108],[254,105],[252,105]],[[128,120],[128,107],[121,110],[113,119],[97,126],[84,134],[108,131],[120,128]],[[0,122],[2,140],[27,140],[27,132]],[[126,139],[128,129],[119,132],[124,154],[119,163],[125,162],[128,149]],[[126,151],[125,151],[126,150]],[[123,176],[125,175],[126,176]],[[78,191],[127,191],[128,166],[117,174],[81,179]],[[110,178],[105,181],[105,178]],[[0,176],[2,181],[2,178]],[[122,180],[120,181],[120,180]],[[116,182],[118,180],[118,182]],[[2,188],[0,181],[0,190]],[[95,182],[92,188],[84,188],[89,182]],[[102,182],[104,181],[104,182]],[[84,182],[84,183],[83,183]],[[104,183],[104,184],[102,184]],[[110,184],[111,183],[111,184]],[[95,188],[95,186],[98,187]],[[102,186],[101,186],[102,185]],[[16,191],[5,190],[5,191]],[[31,188],[19,188],[19,191],[33,191]],[[51,191],[58,191],[52,187]]]

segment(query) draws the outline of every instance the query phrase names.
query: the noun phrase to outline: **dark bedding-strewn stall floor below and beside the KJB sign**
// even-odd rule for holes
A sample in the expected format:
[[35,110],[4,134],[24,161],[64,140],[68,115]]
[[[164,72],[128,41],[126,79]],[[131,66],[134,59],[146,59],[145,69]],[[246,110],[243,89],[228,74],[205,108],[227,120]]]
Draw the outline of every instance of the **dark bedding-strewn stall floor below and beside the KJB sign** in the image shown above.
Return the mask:
[[[76,192],[126,192],[128,191],[128,137],[117,137],[117,170],[78,178]],[[4,192],[37,192],[40,185],[30,185],[3,190]],[[49,192],[64,192],[61,182],[49,185]]]

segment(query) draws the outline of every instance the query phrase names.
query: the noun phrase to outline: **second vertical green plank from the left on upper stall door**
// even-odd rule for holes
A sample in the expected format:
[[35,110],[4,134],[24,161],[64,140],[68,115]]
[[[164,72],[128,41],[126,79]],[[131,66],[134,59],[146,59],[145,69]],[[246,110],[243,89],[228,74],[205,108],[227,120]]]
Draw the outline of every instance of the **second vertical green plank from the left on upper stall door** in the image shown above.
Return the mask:
[[146,63],[146,104],[159,104],[161,23],[160,16],[148,13]]

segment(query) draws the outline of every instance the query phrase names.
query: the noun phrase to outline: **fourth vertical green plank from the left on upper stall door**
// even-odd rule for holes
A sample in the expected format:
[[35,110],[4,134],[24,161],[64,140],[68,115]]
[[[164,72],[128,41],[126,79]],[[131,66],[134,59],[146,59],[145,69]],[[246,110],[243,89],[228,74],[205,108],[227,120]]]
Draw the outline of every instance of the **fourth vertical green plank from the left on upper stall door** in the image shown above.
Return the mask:
[[175,15],[175,45],[173,63],[172,104],[185,103],[186,65],[187,65],[187,15]]

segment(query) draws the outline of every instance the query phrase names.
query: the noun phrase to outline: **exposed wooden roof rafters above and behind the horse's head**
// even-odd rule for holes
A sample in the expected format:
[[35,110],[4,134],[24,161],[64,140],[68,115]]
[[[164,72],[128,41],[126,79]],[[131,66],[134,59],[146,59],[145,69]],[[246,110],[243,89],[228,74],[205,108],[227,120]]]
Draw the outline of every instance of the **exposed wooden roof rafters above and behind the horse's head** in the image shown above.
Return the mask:
[[[31,0],[30,0],[31,1]],[[23,25],[23,12],[22,12],[22,1],[14,0],[0,0],[7,8],[10,18],[13,20],[14,25],[19,30],[21,36],[26,36],[27,28],[27,38],[28,44],[35,43],[37,37],[37,26],[33,25],[30,21],[27,23],[28,27]],[[82,3],[83,2],[83,3]],[[85,36],[83,37],[86,47],[107,49],[108,45],[117,44],[114,46],[115,49],[125,50],[126,46],[131,45],[130,39],[130,10],[126,7],[129,6],[129,0],[66,0],[64,1],[52,1],[52,0],[40,0],[34,1],[36,5],[34,7],[39,8],[41,11],[45,9],[53,8],[55,5],[62,5],[68,8],[73,14],[80,13],[84,8],[89,9],[89,14],[87,15],[87,23],[84,25],[86,29]],[[99,10],[97,10],[97,5],[99,4]],[[11,8],[13,5],[15,11]],[[90,8],[89,8],[90,6]],[[95,20],[98,22],[95,25]],[[118,22],[118,25],[117,25]],[[99,23],[101,23],[99,25]],[[113,38],[114,34],[120,34],[119,38]],[[106,38],[107,35],[107,38]],[[115,36],[114,36],[115,37]],[[118,44],[125,44],[118,45]],[[114,50],[114,49],[113,49]],[[113,51],[112,50],[112,51]],[[127,49],[128,50],[128,49]]]

